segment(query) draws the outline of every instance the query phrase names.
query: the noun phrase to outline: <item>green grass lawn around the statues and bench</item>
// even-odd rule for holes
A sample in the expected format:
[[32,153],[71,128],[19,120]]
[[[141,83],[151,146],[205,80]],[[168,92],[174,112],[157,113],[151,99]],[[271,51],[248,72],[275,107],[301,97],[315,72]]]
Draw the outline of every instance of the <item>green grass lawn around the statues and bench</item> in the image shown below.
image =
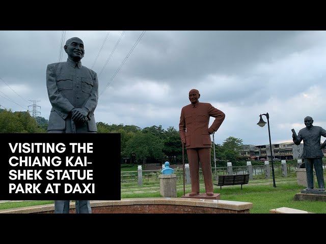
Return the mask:
[[[294,195],[300,193],[305,187],[298,186],[296,177],[277,177],[276,188],[273,188],[273,180],[252,179],[249,184],[240,186],[216,187],[214,193],[221,194],[221,200],[252,202],[251,214],[268,214],[270,209],[289,207],[304,211],[326,214],[326,203],[321,201],[294,201]],[[186,185],[185,193],[191,192],[191,186]],[[201,192],[204,193],[204,184],[201,184]],[[177,197],[183,195],[183,184],[177,184]],[[121,198],[150,198],[161,197],[159,185],[121,187]],[[16,208],[23,206],[50,204],[53,201],[23,201],[0,203],[0,209]]]

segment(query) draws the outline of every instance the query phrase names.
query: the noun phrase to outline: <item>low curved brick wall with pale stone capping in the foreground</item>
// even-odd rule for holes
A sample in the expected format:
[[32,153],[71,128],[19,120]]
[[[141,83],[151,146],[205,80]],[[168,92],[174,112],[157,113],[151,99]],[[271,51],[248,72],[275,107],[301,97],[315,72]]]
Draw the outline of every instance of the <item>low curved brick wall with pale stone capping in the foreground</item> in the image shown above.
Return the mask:
[[[119,201],[91,201],[93,214],[249,214],[253,204],[190,198],[126,198]],[[0,210],[1,213],[52,214],[54,204]],[[75,204],[70,203],[70,212]]]

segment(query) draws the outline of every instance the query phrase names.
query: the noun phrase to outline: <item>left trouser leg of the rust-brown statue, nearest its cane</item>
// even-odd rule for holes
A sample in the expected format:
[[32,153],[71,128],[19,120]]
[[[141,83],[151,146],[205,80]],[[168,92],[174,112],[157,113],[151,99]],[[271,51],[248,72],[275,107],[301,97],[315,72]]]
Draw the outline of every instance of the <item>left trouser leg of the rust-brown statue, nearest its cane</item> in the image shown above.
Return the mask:
[[192,192],[199,192],[199,156],[196,148],[187,149]]

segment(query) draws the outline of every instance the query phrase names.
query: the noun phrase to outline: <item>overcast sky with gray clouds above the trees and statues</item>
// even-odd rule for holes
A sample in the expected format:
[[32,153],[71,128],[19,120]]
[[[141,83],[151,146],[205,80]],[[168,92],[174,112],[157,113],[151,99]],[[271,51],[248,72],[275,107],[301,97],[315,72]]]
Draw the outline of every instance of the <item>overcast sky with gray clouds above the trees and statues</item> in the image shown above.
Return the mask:
[[[234,136],[243,144],[268,144],[267,125],[257,126],[266,112],[271,143],[291,141],[291,129],[304,128],[307,115],[326,129],[325,31],[108,32],[65,32],[65,41],[84,41],[82,64],[98,74],[96,121],[178,130],[181,108],[196,88],[200,102],[226,114],[215,143]],[[59,61],[62,34],[0,31],[1,108],[32,110],[29,100],[37,100],[48,119],[45,72]]]

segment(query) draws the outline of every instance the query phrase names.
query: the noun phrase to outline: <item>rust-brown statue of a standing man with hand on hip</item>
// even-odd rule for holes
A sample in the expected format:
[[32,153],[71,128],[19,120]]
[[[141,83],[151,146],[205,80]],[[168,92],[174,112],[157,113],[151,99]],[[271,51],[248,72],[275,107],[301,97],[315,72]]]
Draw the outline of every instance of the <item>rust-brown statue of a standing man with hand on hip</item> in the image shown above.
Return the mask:
[[[181,142],[185,144],[190,169],[192,192],[189,196],[199,194],[199,162],[205,182],[206,195],[213,196],[213,180],[210,165],[210,148],[212,142],[210,134],[217,131],[225,118],[224,112],[214,108],[210,103],[200,103],[199,91],[192,89],[189,92],[191,104],[181,109],[179,133]],[[209,118],[215,117],[213,124],[208,128]]]

